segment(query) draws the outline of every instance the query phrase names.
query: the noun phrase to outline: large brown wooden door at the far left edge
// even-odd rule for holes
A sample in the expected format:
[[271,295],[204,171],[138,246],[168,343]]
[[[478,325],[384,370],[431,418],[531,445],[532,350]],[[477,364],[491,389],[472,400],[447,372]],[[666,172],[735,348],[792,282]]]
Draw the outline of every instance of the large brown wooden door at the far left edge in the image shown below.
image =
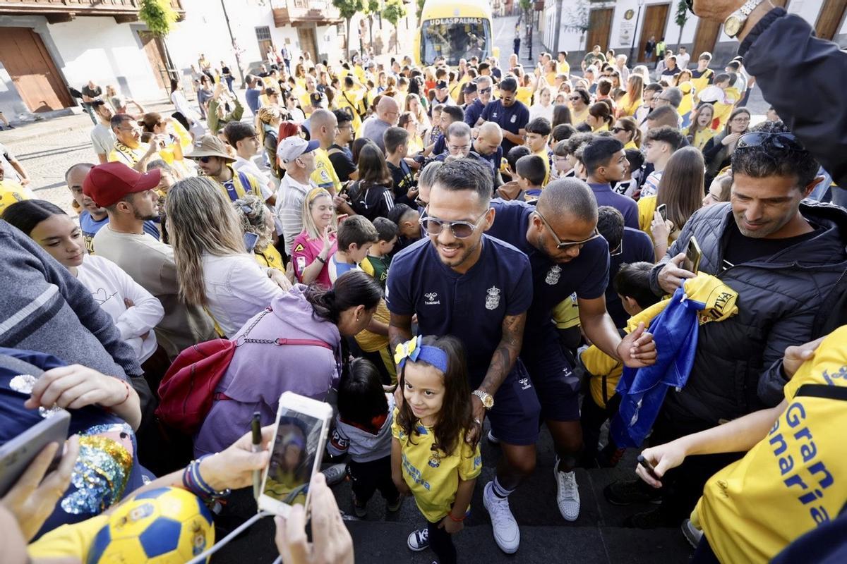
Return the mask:
[[30,28],[3,28],[0,62],[30,112],[50,112],[74,105],[41,36]]

